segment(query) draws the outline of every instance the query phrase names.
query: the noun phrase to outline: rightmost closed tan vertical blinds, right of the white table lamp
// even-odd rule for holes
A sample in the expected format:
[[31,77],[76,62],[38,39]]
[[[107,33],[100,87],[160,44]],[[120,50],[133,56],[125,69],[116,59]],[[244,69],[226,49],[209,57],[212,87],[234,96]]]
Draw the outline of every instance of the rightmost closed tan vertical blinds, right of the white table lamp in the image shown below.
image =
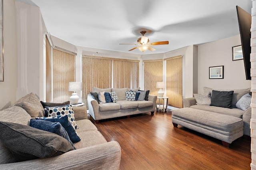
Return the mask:
[[166,60],[166,96],[168,105],[183,107],[182,101],[182,56],[171,57]]

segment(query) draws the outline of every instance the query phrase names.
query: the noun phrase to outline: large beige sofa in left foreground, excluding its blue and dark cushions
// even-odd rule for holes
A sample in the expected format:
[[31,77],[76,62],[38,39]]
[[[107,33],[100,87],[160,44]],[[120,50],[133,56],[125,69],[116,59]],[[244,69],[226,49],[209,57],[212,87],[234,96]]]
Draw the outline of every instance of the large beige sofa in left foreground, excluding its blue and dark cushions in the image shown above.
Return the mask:
[[[12,152],[0,141],[0,169],[118,170],[121,159],[120,145],[116,141],[107,142],[104,139],[96,126],[87,119],[86,107],[73,107],[73,110],[78,126],[76,132],[81,139],[81,141],[74,143],[76,150],[50,158],[37,158],[16,162]],[[40,101],[31,93],[18,100],[13,106],[0,111],[0,121],[30,125],[30,119],[39,116],[42,114],[42,111],[44,110]]]

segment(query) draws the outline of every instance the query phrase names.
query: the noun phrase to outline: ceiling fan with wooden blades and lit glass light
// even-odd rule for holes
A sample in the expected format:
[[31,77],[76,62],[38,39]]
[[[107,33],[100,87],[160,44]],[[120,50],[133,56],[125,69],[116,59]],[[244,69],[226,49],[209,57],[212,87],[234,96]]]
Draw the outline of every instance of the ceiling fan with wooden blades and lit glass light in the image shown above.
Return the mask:
[[[166,45],[166,44],[169,44],[169,41],[149,42],[148,37],[144,36],[144,34],[146,32],[147,31],[140,31],[142,36],[138,38],[138,40],[137,40],[138,44],[128,44],[128,45],[138,45],[137,47],[134,47],[133,49],[130,49],[129,51],[132,51],[136,48],[138,48],[142,52],[146,51],[147,49],[150,50],[150,51],[155,51],[156,49],[151,47],[151,45]],[[127,44],[125,44],[125,45],[127,45]]]

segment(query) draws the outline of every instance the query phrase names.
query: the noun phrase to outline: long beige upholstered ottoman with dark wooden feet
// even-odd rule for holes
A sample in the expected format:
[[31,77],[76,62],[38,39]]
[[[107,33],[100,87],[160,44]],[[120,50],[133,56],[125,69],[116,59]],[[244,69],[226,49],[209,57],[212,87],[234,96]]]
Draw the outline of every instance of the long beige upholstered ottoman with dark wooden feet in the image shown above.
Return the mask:
[[229,144],[243,136],[243,121],[239,117],[185,107],[172,110],[172,123],[214,137]]

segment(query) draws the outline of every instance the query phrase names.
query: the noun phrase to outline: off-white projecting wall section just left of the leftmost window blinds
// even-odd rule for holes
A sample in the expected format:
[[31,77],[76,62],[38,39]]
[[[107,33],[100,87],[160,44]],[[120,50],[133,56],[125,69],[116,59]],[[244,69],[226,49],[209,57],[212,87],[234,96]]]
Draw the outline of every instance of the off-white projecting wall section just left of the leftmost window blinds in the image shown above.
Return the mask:
[[43,32],[47,31],[39,7],[16,1],[18,85],[17,99],[34,92],[42,100]]

